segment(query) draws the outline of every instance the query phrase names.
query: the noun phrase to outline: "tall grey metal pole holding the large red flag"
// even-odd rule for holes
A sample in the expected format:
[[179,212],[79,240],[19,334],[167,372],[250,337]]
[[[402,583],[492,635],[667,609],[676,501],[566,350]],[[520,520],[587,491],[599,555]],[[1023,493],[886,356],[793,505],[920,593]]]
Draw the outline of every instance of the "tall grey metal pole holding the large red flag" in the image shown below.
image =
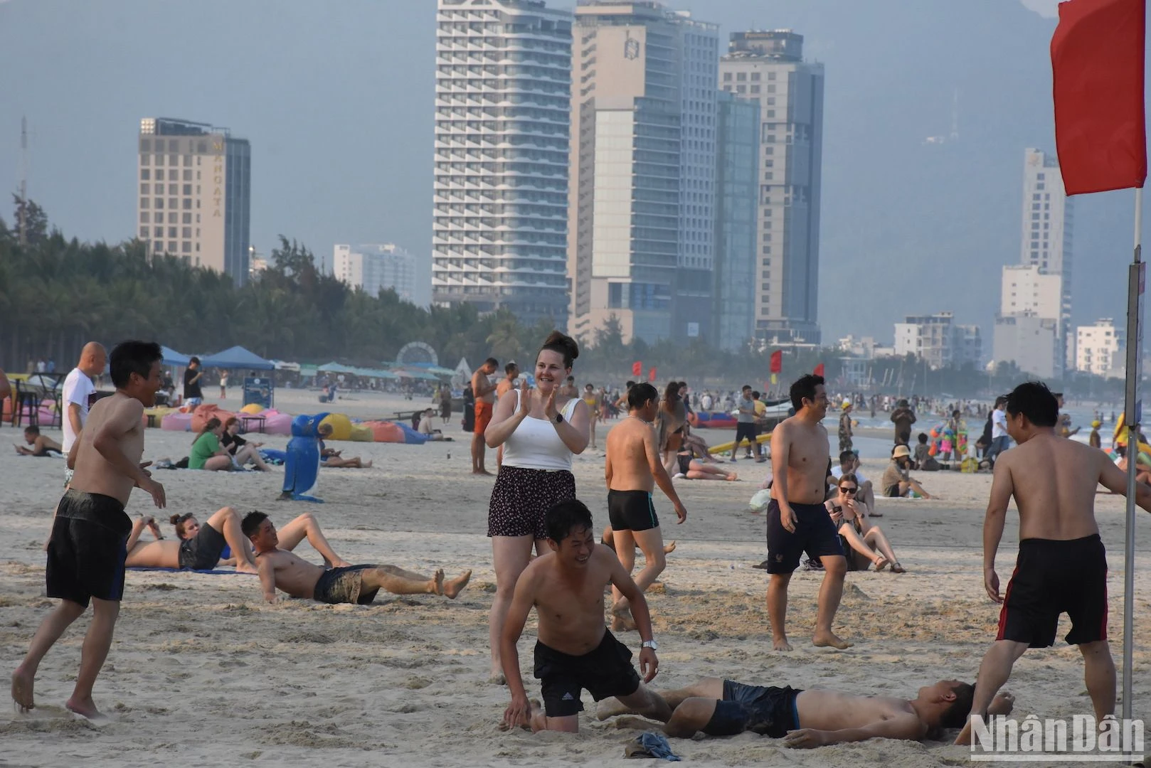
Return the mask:
[[1127,282],[1127,386],[1123,418],[1127,426],[1127,527],[1123,541],[1123,720],[1131,718],[1131,651],[1135,614],[1135,472],[1139,455],[1142,418],[1139,379],[1143,375],[1143,188],[1135,188],[1135,257]]

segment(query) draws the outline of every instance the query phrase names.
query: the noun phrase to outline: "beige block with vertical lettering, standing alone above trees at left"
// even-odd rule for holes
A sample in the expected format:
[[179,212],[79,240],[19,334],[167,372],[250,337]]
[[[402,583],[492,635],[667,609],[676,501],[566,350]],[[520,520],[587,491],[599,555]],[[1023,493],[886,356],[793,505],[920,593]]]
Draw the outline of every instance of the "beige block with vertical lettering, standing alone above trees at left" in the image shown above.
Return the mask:
[[167,253],[247,281],[252,150],[227,128],[140,120],[138,237]]

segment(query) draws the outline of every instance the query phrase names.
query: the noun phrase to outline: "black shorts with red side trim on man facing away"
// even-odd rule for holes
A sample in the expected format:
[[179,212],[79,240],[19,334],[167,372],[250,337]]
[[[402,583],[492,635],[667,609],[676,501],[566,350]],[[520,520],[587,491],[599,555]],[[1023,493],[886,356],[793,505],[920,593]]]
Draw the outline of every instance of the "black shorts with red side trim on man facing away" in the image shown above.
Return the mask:
[[996,639],[1032,648],[1054,645],[1062,613],[1072,619],[1065,638],[1070,645],[1107,639],[1107,553],[1098,533],[1019,542]]

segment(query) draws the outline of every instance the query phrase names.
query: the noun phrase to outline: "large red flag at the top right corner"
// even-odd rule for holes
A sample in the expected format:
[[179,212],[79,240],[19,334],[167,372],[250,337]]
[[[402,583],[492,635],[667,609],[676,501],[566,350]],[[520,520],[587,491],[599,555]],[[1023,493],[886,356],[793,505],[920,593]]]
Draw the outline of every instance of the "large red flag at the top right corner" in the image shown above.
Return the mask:
[[1145,0],[1059,3],[1051,38],[1055,150],[1068,195],[1143,187]]

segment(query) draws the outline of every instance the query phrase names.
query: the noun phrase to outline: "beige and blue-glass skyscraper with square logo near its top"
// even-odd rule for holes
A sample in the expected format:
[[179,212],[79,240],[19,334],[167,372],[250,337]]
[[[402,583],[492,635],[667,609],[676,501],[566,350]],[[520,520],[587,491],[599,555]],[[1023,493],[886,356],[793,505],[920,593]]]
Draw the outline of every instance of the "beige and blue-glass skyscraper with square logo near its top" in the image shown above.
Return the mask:
[[710,339],[718,28],[581,0],[573,38],[570,330]]

